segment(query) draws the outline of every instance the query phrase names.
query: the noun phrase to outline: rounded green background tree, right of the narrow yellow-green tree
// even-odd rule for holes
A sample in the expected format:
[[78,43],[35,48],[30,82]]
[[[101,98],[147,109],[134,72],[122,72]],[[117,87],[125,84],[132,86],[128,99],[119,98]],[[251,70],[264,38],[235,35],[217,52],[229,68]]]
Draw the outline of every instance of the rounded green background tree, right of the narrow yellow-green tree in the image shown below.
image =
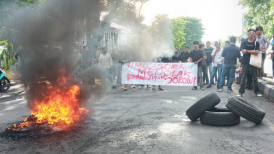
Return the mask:
[[[201,19],[199,18],[186,17],[184,20],[186,21],[186,26],[184,28],[186,43],[183,46],[188,46],[191,50],[193,49],[193,41],[197,40],[201,42],[201,38],[204,34],[204,28],[201,23]],[[182,47],[181,50],[184,50],[184,47]]]

